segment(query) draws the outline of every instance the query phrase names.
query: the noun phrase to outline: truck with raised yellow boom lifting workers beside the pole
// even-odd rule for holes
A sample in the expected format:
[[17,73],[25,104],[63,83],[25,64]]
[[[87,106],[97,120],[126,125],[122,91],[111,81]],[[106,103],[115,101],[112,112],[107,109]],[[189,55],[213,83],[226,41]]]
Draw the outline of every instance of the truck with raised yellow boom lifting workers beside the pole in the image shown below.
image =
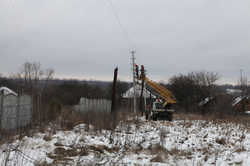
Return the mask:
[[[136,68],[138,73],[138,66]],[[146,89],[156,97],[156,99],[150,98],[145,102],[146,119],[171,121],[174,112],[172,107],[177,102],[172,92],[161,84],[147,78],[144,74],[143,65],[141,66],[141,75],[136,74],[136,76],[138,80],[145,84]]]

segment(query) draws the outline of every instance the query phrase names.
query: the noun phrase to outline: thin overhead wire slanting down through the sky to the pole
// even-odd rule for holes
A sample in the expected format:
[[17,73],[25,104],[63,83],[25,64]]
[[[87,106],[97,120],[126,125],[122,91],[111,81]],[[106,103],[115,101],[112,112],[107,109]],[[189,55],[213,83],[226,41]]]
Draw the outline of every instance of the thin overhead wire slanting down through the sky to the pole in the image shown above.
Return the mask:
[[129,35],[127,29],[126,29],[125,26],[122,24],[122,22],[121,22],[121,20],[120,20],[120,17],[119,17],[119,14],[118,14],[118,11],[117,11],[117,9],[115,8],[115,5],[113,4],[112,0],[107,0],[107,2],[109,3],[109,6],[110,6],[110,8],[111,8],[111,10],[112,10],[112,13],[113,13],[113,15],[114,15],[114,17],[115,17],[115,19],[116,19],[118,25],[119,25],[119,27],[120,27],[120,29],[121,29],[121,31],[122,31],[124,37],[126,38],[128,44],[129,44],[130,50],[134,50],[134,49],[135,49],[135,44],[132,42],[131,37],[130,37],[130,35]]

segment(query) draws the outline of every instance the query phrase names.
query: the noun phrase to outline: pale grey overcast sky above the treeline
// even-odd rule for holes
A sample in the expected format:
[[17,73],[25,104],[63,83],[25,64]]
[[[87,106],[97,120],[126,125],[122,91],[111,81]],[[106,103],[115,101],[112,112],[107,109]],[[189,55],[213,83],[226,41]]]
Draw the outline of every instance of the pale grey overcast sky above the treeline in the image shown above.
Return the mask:
[[[131,78],[130,50],[149,77],[218,72],[236,83],[250,74],[249,0],[0,0],[0,73],[26,61],[57,77]],[[131,45],[131,42],[133,45]],[[130,77],[129,77],[130,76]]]

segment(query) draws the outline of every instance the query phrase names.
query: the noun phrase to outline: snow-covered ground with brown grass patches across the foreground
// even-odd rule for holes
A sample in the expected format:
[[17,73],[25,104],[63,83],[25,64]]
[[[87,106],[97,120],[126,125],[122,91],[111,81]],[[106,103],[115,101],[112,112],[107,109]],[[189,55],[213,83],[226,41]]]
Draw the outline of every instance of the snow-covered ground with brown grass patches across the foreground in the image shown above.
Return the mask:
[[[250,165],[250,129],[232,123],[129,120],[115,131],[80,124],[0,145],[4,165]],[[0,164],[0,165],[1,165]]]

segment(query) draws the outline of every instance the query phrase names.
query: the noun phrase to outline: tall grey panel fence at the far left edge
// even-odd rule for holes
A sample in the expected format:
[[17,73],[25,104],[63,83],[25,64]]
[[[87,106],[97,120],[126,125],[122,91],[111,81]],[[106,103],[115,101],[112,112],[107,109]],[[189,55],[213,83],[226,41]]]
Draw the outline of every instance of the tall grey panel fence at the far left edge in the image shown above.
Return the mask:
[[25,127],[32,120],[30,96],[0,95],[0,129],[14,130]]

